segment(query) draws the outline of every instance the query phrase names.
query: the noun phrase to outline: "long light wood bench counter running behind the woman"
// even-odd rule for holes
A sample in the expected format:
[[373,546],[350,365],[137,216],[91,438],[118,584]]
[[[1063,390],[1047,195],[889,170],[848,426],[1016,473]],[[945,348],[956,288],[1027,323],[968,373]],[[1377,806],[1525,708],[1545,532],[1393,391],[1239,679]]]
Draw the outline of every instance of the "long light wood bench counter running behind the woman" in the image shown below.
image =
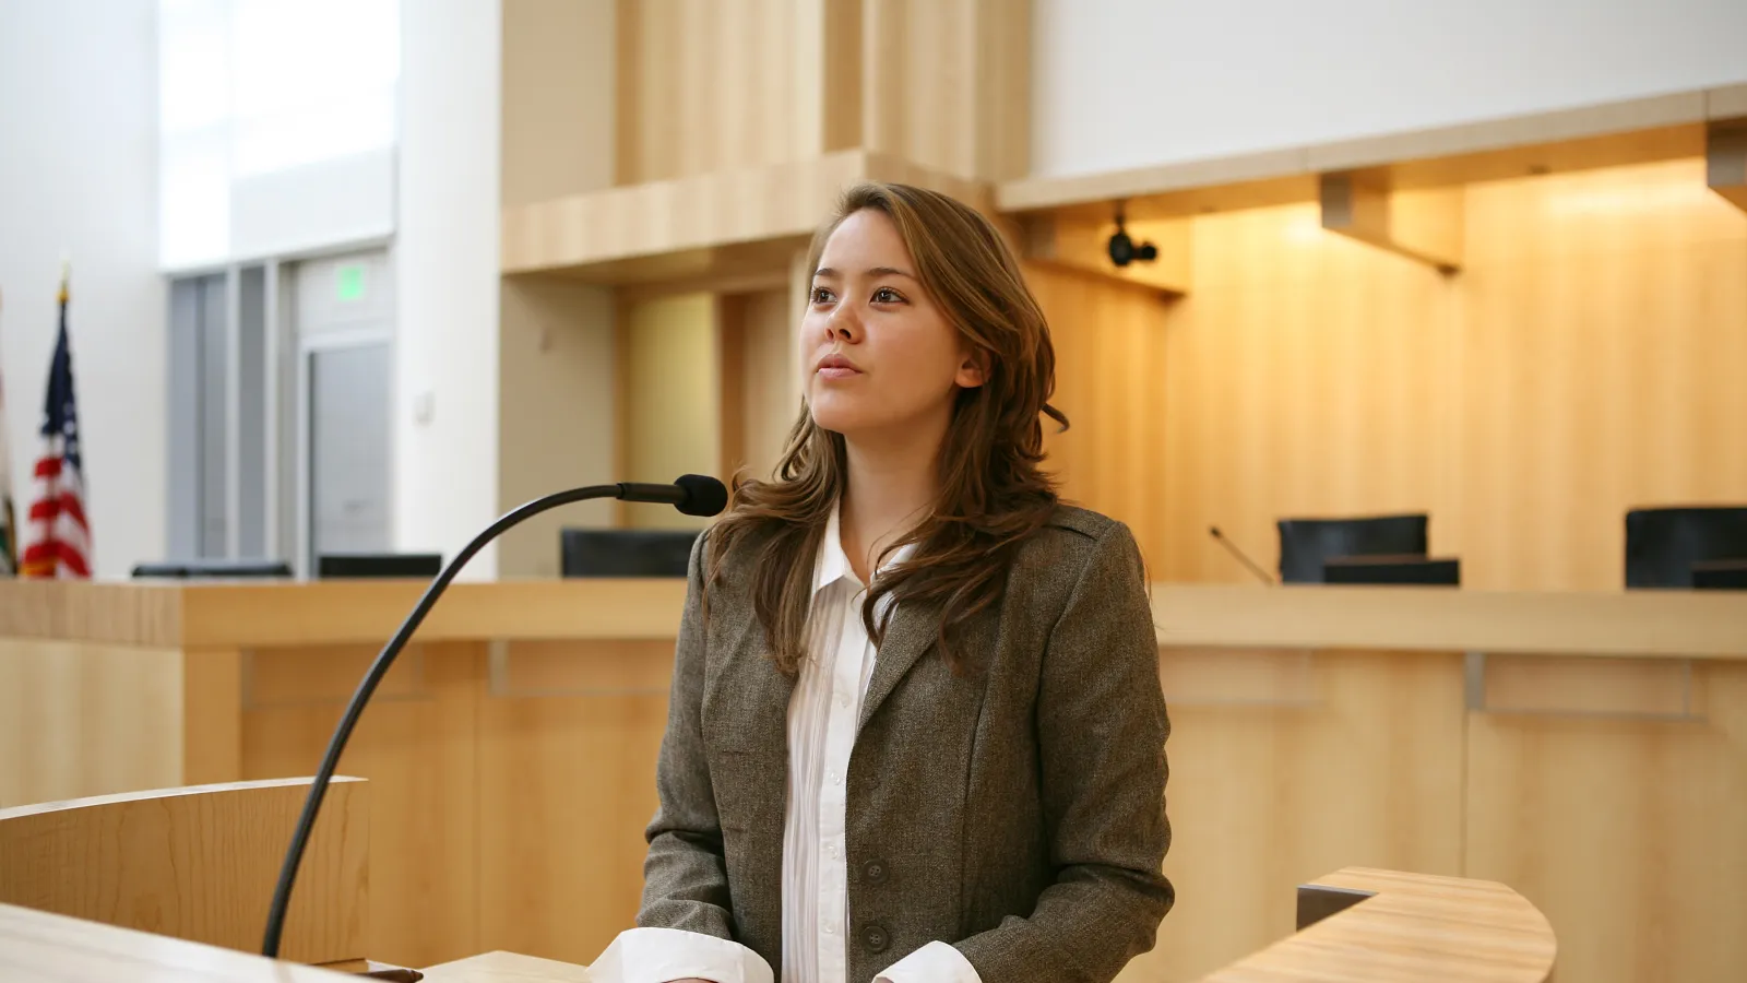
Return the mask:
[[[0,806],[309,775],[421,582],[0,582]],[[454,584],[341,770],[370,952],[585,962],[634,918],[680,581]],[[1195,980],[1347,866],[1509,883],[1583,980],[1747,966],[1747,595],[1162,584]],[[1599,658],[1605,656],[1605,658]],[[1621,890],[1630,885],[1630,890]]]

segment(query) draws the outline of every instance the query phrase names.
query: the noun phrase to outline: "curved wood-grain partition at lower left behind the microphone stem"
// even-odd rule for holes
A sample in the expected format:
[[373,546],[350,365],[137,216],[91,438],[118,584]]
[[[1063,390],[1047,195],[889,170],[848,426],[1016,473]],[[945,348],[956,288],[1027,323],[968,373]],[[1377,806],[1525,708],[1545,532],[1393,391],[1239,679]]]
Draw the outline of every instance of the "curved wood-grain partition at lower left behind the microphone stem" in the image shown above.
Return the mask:
[[[307,778],[187,785],[0,810],[0,903],[255,952]],[[335,777],[281,957],[362,959],[369,787]]]

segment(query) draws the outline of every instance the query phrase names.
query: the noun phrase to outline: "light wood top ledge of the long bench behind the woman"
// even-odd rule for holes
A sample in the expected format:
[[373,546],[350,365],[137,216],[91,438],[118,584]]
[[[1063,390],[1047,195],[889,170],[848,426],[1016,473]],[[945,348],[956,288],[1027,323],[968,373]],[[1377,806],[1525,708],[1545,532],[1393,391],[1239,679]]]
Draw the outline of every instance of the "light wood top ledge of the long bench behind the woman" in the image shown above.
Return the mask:
[[[0,637],[142,647],[383,644],[414,581],[0,581]],[[685,582],[461,582],[419,628],[442,640],[673,638]],[[1744,591],[1157,584],[1162,645],[1747,658]]]

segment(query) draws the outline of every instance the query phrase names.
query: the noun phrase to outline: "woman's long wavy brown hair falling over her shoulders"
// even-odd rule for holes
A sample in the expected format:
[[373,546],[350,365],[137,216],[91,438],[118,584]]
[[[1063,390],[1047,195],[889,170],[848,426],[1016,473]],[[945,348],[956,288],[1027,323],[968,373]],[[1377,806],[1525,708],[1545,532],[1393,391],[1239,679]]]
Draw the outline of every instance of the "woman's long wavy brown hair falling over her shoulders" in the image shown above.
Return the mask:
[[[863,208],[891,219],[922,287],[987,371],[984,385],[957,392],[940,446],[933,507],[880,553],[875,567],[907,544],[914,542],[915,551],[874,577],[861,619],[879,644],[886,630],[884,621],[875,624],[880,598],[929,605],[940,616],[942,658],[964,672],[970,666],[956,647],[959,630],[999,600],[1019,546],[1057,505],[1055,481],[1041,469],[1041,418],[1067,429],[1067,416],[1048,402],[1055,348],[1006,241],[984,215],[945,194],[905,184],[851,187],[814,234],[809,271],[818,269],[837,226]],[[753,607],[784,673],[798,672],[807,654],[814,556],[846,486],[842,434],[816,425],[802,406],[776,479],[737,479],[728,514],[709,533],[709,567],[718,575],[735,544],[756,544]]]

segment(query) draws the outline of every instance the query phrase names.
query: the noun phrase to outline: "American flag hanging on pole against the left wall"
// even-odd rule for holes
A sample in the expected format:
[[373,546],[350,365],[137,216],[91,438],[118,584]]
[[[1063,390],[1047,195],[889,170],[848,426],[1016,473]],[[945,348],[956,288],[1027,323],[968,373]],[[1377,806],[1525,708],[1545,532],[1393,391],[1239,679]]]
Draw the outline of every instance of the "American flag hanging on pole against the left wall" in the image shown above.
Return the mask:
[[61,332],[54,341],[49,397],[44,402],[30,546],[19,572],[26,577],[89,579],[91,526],[86,523],[86,479],[73,406],[73,353],[66,345],[66,283],[61,283]]

